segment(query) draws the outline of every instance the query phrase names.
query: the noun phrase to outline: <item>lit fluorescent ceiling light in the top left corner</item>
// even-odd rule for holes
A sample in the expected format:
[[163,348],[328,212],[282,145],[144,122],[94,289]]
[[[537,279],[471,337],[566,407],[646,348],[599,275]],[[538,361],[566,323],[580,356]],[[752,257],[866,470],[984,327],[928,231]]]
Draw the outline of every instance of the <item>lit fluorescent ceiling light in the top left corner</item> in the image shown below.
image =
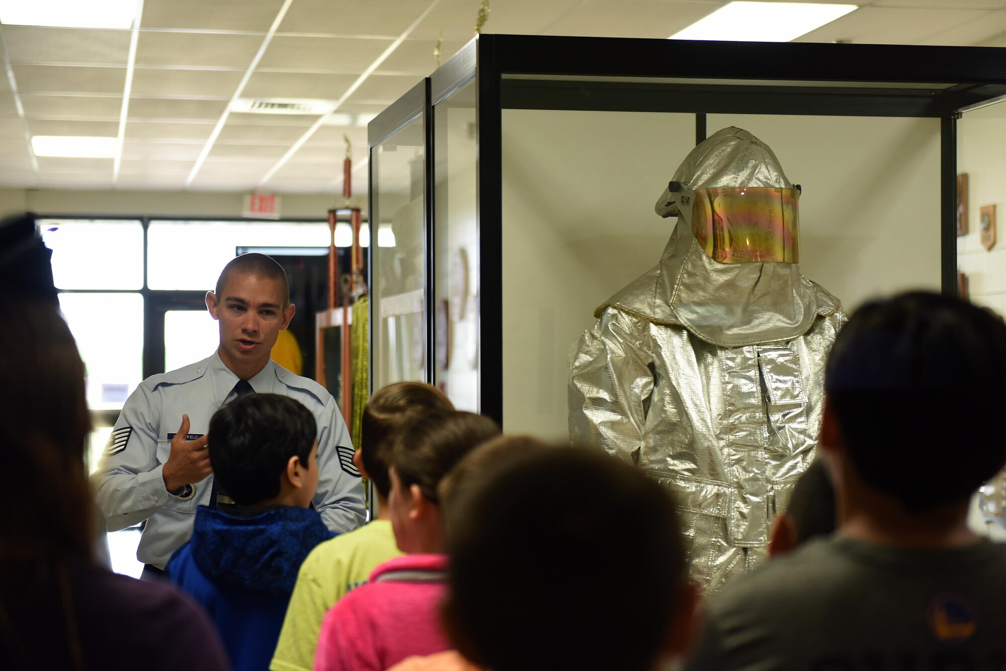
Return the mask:
[[138,0],[0,0],[4,25],[57,28],[133,27]]

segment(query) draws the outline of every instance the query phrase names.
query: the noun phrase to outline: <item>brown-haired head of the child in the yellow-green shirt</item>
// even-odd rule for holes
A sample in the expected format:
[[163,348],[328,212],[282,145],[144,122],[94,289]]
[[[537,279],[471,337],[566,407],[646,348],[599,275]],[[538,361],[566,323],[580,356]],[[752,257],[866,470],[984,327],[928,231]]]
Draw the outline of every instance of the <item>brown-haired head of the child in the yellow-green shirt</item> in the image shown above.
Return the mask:
[[363,410],[360,445],[353,457],[356,467],[374,483],[377,494],[387,498],[387,452],[391,438],[418,415],[454,410],[451,401],[433,385],[396,382],[377,390]]

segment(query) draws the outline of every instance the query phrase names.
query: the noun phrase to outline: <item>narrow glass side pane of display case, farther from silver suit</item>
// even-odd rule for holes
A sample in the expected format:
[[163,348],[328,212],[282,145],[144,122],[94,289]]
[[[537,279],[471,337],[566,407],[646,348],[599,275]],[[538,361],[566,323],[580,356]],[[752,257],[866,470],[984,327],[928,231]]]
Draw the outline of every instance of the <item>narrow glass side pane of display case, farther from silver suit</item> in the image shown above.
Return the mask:
[[378,222],[370,252],[374,389],[426,380],[424,135],[421,115],[371,150],[377,181],[371,222]]

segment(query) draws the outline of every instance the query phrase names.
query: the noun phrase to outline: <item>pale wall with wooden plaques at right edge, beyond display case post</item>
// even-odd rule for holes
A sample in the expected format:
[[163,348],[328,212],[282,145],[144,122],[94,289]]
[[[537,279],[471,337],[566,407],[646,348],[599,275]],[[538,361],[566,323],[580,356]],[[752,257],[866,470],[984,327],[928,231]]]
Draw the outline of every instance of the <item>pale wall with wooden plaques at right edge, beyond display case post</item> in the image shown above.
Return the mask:
[[[957,239],[958,268],[968,276],[971,299],[1006,314],[1006,105],[966,113],[958,122],[959,173],[968,174],[968,234]],[[997,241],[979,239],[982,206],[995,205]]]

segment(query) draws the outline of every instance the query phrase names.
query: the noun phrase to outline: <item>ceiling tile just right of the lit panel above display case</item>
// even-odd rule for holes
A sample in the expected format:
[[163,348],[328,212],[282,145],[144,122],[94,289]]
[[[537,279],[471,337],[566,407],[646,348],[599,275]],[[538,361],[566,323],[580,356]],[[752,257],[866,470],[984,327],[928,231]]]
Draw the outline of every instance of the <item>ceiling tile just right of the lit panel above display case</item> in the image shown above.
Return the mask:
[[913,44],[987,15],[981,10],[860,7],[794,41]]

